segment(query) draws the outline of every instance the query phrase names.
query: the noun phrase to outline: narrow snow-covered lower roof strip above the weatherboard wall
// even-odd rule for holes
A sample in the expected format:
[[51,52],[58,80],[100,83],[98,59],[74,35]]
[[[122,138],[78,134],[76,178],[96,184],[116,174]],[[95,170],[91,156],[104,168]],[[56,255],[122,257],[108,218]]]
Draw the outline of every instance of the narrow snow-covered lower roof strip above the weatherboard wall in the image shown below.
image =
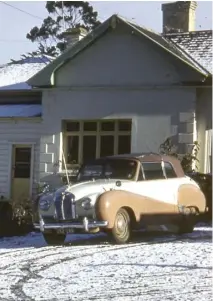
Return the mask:
[[38,117],[41,116],[41,105],[0,105],[0,117]]

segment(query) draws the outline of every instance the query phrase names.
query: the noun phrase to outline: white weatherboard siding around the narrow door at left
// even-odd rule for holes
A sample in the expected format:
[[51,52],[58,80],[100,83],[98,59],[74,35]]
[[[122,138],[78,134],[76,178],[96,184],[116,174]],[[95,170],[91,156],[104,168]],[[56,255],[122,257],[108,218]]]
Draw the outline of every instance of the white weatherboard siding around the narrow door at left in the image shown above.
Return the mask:
[[[34,145],[33,183],[39,179],[41,119],[0,119],[0,197],[10,197],[11,146],[29,143]],[[33,184],[35,189],[35,184]]]

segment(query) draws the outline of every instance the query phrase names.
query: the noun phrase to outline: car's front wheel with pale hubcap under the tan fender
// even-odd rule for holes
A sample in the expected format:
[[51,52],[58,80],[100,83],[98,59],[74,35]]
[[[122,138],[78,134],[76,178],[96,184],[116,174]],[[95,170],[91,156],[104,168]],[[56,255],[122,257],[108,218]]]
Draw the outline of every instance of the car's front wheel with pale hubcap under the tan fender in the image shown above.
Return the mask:
[[118,244],[124,244],[129,241],[131,237],[131,220],[126,209],[121,208],[118,210],[111,234],[113,240]]

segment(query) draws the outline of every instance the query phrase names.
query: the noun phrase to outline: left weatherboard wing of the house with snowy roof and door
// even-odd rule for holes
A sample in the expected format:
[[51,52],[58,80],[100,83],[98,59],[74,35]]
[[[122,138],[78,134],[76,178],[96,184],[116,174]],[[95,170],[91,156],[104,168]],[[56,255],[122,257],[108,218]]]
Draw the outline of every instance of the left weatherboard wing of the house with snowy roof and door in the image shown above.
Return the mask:
[[0,67],[1,199],[27,197],[39,178],[42,93],[26,81],[50,60],[26,58]]

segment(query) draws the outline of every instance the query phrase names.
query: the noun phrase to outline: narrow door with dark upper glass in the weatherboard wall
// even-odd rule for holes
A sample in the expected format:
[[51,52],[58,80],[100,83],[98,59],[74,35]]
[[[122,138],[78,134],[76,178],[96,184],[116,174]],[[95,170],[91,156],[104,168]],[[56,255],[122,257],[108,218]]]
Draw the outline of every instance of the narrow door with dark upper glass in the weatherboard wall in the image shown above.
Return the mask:
[[12,183],[13,201],[26,200],[31,194],[32,145],[13,145]]

